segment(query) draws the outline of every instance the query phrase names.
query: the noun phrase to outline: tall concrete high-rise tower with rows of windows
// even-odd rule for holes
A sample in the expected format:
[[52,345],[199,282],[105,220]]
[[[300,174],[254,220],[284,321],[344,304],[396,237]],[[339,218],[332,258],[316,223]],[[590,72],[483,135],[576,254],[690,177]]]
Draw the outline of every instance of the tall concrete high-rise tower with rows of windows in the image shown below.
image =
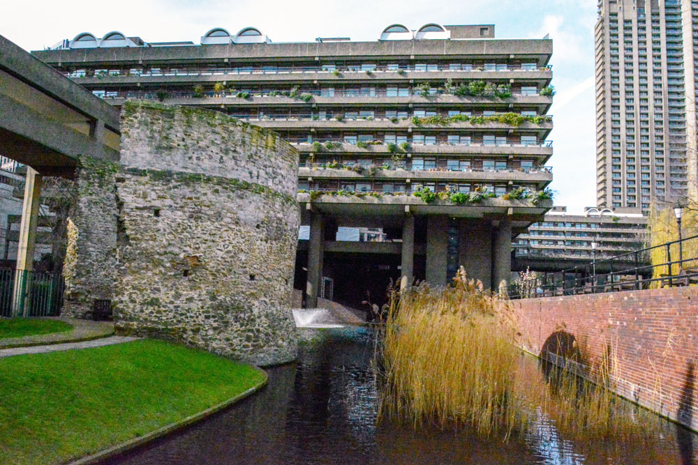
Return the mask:
[[648,212],[696,195],[697,35],[695,1],[599,1],[597,205]]

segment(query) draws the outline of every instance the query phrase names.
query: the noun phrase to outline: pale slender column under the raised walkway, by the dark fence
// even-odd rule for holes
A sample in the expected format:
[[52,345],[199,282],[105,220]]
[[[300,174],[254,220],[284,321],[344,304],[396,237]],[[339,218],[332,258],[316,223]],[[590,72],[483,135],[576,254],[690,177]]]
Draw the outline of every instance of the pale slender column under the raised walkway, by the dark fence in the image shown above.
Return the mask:
[[41,204],[41,175],[27,167],[24,181],[24,201],[22,203],[22,222],[20,222],[20,242],[17,245],[17,266],[15,267],[15,287],[13,290],[12,312],[15,317],[27,317],[29,314],[29,276],[25,271],[34,268],[34,245],[36,243],[36,225]]

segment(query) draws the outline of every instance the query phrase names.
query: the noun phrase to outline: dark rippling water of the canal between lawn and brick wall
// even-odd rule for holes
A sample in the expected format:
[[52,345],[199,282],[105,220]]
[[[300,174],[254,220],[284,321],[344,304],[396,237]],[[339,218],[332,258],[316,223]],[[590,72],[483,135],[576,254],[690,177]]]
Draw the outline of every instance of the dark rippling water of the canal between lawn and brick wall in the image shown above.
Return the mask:
[[294,365],[269,369],[264,390],[111,463],[698,465],[696,435],[658,418],[641,443],[574,443],[544,417],[523,443],[377,426],[371,330],[304,331],[313,341]]

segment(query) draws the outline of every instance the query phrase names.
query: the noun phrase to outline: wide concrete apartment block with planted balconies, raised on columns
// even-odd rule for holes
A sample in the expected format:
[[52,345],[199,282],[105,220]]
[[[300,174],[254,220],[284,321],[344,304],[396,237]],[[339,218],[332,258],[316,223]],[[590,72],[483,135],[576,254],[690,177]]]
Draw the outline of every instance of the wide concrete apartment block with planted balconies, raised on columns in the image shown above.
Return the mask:
[[[34,52],[105,101],[215,109],[295,144],[302,224],[295,286],[315,306],[379,300],[389,280],[446,284],[458,266],[507,279],[511,243],[551,205],[551,40],[494,26],[393,24],[374,42],[274,43],[214,28],[200,45],[89,33]],[[381,241],[338,241],[339,227]]]

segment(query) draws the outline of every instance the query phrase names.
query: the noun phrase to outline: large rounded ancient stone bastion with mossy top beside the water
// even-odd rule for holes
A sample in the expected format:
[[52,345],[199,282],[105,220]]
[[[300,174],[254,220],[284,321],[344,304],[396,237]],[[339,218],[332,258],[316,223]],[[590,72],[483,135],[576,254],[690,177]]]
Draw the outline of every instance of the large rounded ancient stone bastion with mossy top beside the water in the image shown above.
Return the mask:
[[216,112],[127,102],[115,320],[260,365],[295,358],[297,152]]

